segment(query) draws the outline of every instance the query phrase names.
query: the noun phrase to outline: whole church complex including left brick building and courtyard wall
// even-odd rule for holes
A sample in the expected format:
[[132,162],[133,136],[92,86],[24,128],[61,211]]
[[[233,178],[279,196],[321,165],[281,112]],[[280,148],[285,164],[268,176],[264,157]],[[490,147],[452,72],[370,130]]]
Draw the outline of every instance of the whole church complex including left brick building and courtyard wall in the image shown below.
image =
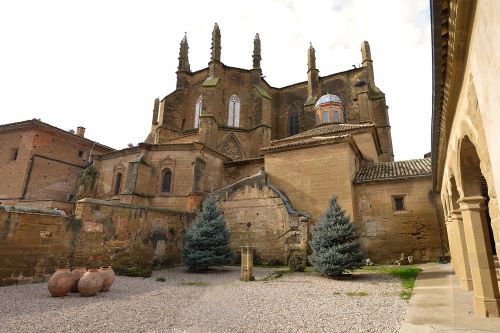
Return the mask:
[[184,36],[176,89],[154,101],[137,146],[113,150],[82,127],[75,134],[39,120],[0,126],[8,161],[0,165],[0,255],[9,258],[0,284],[67,264],[178,264],[184,231],[208,195],[235,252],[250,246],[257,263],[303,266],[310,228],[332,195],[372,261],[447,254],[431,160],[394,161],[368,42],[361,66],[326,76],[311,45],[307,81],[285,87],[264,80],[258,34],[251,69],[222,63],[221,49],[215,24],[208,67],[191,71]]

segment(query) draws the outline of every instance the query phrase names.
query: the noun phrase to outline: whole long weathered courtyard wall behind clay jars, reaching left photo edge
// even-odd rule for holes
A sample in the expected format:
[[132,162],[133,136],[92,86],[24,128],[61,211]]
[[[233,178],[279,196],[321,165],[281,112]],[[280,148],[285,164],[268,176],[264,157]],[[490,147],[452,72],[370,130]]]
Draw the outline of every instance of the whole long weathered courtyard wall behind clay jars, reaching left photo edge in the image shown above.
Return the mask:
[[180,262],[192,215],[84,199],[76,216],[0,206],[0,285],[43,281],[58,267],[115,269]]

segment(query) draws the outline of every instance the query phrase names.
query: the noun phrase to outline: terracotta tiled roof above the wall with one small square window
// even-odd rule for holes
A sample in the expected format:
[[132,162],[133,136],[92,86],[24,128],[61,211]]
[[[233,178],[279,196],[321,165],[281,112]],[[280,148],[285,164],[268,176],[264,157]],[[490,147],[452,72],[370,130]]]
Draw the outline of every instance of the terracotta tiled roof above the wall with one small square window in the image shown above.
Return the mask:
[[373,181],[430,177],[431,159],[422,158],[417,160],[380,162],[363,165],[356,172],[354,183],[366,183]]

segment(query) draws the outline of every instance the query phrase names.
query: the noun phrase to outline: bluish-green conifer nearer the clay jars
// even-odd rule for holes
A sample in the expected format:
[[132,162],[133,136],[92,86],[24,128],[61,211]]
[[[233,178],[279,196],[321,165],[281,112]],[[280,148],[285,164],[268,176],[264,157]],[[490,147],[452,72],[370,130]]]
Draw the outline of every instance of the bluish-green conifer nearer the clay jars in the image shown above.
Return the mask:
[[235,256],[229,247],[229,237],[224,215],[217,208],[215,199],[207,197],[193,226],[184,236],[182,261],[189,270],[204,270],[233,262]]

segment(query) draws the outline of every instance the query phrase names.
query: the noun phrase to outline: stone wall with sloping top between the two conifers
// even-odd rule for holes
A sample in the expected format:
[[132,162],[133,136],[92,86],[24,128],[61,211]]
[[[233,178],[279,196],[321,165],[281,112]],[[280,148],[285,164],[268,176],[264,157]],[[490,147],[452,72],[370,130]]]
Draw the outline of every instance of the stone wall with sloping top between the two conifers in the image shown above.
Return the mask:
[[308,219],[287,207],[277,189],[266,184],[260,172],[216,193],[231,232],[231,247],[255,249],[255,261],[288,264],[291,256],[304,260]]

